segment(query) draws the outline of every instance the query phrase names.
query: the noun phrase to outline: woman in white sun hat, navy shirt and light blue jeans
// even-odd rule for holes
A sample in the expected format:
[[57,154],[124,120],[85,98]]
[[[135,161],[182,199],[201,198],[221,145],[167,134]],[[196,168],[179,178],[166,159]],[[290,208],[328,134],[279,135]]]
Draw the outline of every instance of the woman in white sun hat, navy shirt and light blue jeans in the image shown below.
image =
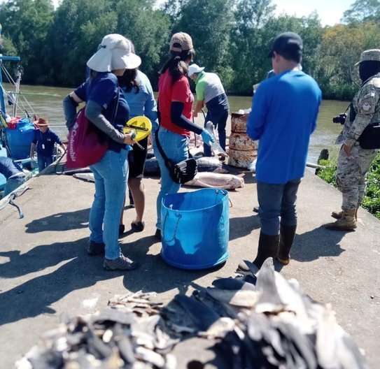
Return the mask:
[[132,43],[119,34],[104,36],[97,52],[87,61],[90,77],[64,99],[66,125],[75,122],[76,108],[85,101],[85,115],[99,138],[108,141],[104,157],[90,166],[95,179],[95,196],[90,210],[90,242],[87,253],[103,254],[107,270],[132,270],[136,263],[122,254],[118,243],[119,219],[128,178],[127,154],[133,145],[123,133],[129,106],[118,86],[125,69],[137,68],[141,59],[132,52]]

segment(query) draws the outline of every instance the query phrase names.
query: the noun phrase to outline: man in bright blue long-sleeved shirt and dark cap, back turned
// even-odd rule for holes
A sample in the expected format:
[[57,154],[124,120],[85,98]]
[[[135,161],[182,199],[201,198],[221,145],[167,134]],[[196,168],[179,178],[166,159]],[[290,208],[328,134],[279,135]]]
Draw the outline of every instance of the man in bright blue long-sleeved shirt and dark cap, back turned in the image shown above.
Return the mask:
[[247,123],[248,136],[260,140],[256,179],[261,232],[253,261],[259,268],[269,256],[284,265],[290,261],[297,226],[297,190],[322,98],[316,81],[298,66],[302,60],[300,36],[280,34],[269,56],[276,75],[260,83]]

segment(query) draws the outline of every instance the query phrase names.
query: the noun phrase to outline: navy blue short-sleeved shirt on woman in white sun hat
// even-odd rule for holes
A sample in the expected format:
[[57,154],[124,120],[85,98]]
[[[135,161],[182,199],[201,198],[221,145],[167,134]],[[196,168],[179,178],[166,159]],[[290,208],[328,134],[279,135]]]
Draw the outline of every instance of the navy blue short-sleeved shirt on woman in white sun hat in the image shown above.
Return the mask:
[[[129,120],[129,106],[127,100],[118,87],[118,78],[111,72],[99,72],[93,78],[87,78],[75,91],[76,95],[83,101],[94,101],[102,108],[102,114],[108,122],[111,122],[115,129],[122,132],[125,123]],[[118,103],[118,106],[116,104]],[[116,110],[117,109],[117,110]],[[113,120],[113,115],[115,119]],[[94,127],[98,130],[97,127]],[[99,131],[99,136],[108,140],[109,148],[113,151],[120,151],[125,147],[122,143],[117,143],[106,136],[106,133]]]

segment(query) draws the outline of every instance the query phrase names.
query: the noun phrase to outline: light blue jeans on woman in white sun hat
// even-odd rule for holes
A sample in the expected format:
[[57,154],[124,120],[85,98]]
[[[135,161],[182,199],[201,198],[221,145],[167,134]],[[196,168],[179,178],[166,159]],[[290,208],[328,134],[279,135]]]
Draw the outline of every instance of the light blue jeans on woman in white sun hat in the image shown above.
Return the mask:
[[95,179],[95,196],[90,210],[90,240],[106,245],[106,259],[120,256],[119,222],[128,178],[129,150],[107,150],[90,166]]

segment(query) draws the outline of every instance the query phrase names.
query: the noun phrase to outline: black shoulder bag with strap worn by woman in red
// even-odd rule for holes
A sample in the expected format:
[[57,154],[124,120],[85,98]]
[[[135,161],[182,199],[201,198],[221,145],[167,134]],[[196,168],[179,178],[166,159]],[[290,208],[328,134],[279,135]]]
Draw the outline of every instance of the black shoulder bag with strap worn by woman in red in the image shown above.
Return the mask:
[[155,143],[157,144],[158,151],[164,159],[165,166],[167,167],[171,179],[176,183],[184,184],[192,180],[198,173],[197,161],[194,158],[185,159],[179,163],[175,163],[169,159],[158,140],[158,131],[155,133]]

